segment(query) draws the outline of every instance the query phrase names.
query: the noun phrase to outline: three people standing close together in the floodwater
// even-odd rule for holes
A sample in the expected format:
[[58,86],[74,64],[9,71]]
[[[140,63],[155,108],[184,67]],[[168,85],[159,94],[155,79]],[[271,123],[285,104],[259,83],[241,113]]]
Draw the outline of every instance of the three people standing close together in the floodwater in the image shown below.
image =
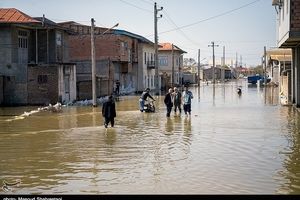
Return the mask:
[[173,106],[175,115],[177,113],[177,109],[179,111],[179,114],[181,114],[181,104],[183,104],[184,113],[186,115],[191,115],[191,103],[193,98],[193,93],[189,91],[187,86],[184,87],[184,91],[182,92],[182,94],[177,87],[174,87],[174,90],[170,88],[164,98],[164,103],[167,107],[166,116],[170,117]]

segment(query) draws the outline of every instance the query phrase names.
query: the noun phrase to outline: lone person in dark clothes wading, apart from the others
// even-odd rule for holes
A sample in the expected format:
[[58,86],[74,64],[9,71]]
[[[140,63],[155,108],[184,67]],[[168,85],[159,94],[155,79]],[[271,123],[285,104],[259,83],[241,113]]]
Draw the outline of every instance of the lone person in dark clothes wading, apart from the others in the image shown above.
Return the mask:
[[111,127],[115,125],[115,117],[116,117],[116,105],[112,96],[108,97],[108,101],[106,101],[102,106],[102,116],[104,117],[104,126],[107,128],[109,122]]

